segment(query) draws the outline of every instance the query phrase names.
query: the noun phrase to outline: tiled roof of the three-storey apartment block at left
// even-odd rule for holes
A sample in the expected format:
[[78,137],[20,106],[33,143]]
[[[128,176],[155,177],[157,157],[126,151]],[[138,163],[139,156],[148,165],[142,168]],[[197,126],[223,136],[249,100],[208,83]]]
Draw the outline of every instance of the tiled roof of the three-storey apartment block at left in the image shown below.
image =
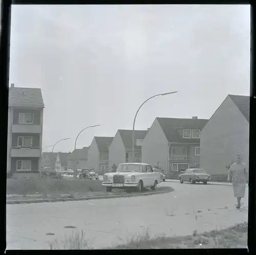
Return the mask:
[[44,108],[41,89],[9,87],[9,106]]

